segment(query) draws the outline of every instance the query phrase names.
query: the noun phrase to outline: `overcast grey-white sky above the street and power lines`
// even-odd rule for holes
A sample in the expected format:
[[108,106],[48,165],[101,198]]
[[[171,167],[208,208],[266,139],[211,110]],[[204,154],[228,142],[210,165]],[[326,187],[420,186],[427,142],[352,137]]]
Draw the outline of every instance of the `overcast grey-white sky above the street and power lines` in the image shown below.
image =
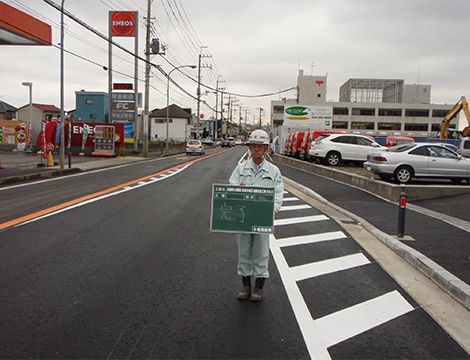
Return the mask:
[[[60,42],[60,12],[43,0],[3,0],[52,26]],[[55,0],[60,5],[61,0]],[[100,33],[108,34],[108,12],[139,12],[139,55],[144,57],[146,0],[66,0],[65,9]],[[431,101],[454,104],[470,96],[469,0],[153,0],[153,37],[167,46],[152,56],[165,72],[173,66],[197,65],[204,54],[202,82],[238,94],[248,118],[266,110],[270,101],[295,97],[299,69],[327,75],[327,100],[338,101],[339,87],[350,78],[404,79],[430,84]],[[75,108],[75,91],[107,91],[107,43],[65,17],[65,109]],[[129,50],[130,38],[114,40]],[[116,49],[114,82],[132,82],[133,59]],[[33,102],[60,107],[59,47],[0,46],[0,99],[16,107],[29,102],[23,81],[33,83]],[[166,60],[165,60],[166,59]],[[313,64],[313,66],[312,66]],[[139,91],[144,91],[144,65],[139,64]],[[209,68],[210,66],[210,68]],[[197,70],[184,69],[197,78]],[[127,77],[126,75],[130,76]],[[197,84],[174,71],[172,78],[196,96]],[[150,109],[166,106],[166,79],[151,78]],[[203,88],[203,92],[204,92]],[[243,96],[240,96],[243,95]],[[215,107],[215,95],[202,99]],[[191,107],[196,101],[170,87],[170,103]],[[243,111],[242,113],[244,113]],[[201,106],[201,113],[212,111]]]

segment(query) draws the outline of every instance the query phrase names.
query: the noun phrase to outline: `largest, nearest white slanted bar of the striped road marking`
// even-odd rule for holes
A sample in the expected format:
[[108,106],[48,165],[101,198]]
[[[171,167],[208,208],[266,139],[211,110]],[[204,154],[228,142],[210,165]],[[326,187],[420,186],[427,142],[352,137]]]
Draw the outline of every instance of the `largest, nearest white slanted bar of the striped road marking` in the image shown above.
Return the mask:
[[[327,347],[414,310],[397,291],[354,305],[315,320]],[[312,358],[313,359],[313,358]]]

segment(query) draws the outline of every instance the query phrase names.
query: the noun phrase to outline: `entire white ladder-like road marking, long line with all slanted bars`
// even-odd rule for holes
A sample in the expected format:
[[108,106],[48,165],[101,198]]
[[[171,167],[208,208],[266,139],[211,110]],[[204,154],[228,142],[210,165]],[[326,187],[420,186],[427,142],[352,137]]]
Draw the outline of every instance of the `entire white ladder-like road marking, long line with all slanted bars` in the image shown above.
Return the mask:
[[[299,200],[298,198],[291,197],[287,199],[289,199],[287,200],[289,202]],[[286,201],[286,199],[284,199],[284,201]],[[305,210],[308,208],[311,208],[311,206],[307,204],[283,206],[281,211],[295,212],[296,210]],[[274,221],[274,225],[285,226],[326,220],[330,219],[325,215],[292,217],[277,219]],[[348,271],[359,266],[368,266],[371,262],[363,253],[359,252],[338,258],[289,267],[284,258],[282,248],[325,241],[338,241],[344,238],[347,238],[347,236],[342,231],[293,236],[281,239],[276,239],[274,235],[270,236],[271,253],[279,269],[282,282],[312,359],[331,359],[328,353],[329,347],[413,310],[413,306],[395,290],[363,303],[328,314],[322,318],[312,318],[310,310],[297,285],[298,281],[339,271]]]

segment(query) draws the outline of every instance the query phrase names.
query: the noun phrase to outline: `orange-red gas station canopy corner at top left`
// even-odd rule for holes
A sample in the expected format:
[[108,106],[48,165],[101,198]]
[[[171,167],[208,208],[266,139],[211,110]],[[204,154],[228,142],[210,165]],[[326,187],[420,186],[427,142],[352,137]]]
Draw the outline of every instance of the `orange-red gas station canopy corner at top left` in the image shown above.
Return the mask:
[[51,45],[51,27],[0,1],[0,45]]

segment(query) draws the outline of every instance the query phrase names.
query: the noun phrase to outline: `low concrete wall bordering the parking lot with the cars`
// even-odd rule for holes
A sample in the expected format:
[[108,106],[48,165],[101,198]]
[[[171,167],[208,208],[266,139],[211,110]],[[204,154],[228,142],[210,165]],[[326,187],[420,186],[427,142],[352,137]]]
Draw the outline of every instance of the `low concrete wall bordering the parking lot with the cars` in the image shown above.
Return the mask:
[[310,163],[308,161],[297,160],[294,158],[270,154],[273,161],[283,165],[289,165],[297,169],[302,169],[316,175],[334,179],[345,184],[355,186],[357,188],[367,190],[373,194],[377,194],[384,199],[397,202],[400,194],[406,194],[407,201],[433,199],[442,196],[452,196],[470,193],[470,186],[455,185],[396,185],[385,181],[368,179],[363,176],[350,174],[345,171],[332,169],[326,166]]

